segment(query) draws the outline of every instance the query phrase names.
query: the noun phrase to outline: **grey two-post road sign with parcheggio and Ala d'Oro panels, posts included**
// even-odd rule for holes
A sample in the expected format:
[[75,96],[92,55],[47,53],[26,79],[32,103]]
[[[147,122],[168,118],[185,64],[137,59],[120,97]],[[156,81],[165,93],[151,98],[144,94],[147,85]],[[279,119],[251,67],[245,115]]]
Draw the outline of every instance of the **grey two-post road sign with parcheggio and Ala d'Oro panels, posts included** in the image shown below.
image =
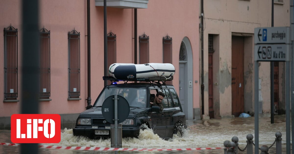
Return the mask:
[[[254,129],[255,153],[259,153],[258,137],[258,61],[286,62],[286,138],[287,149],[290,149],[290,27],[258,27],[254,29]],[[292,68],[293,69],[293,68]]]

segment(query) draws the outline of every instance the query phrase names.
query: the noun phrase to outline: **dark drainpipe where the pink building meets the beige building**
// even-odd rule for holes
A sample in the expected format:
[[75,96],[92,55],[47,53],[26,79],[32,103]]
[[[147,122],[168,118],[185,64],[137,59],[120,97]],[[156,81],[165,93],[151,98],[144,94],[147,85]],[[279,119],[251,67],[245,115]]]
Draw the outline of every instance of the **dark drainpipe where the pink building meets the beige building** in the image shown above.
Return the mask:
[[[204,67],[203,67],[203,0],[201,0],[201,110],[204,115]],[[203,117],[202,117],[203,118]]]

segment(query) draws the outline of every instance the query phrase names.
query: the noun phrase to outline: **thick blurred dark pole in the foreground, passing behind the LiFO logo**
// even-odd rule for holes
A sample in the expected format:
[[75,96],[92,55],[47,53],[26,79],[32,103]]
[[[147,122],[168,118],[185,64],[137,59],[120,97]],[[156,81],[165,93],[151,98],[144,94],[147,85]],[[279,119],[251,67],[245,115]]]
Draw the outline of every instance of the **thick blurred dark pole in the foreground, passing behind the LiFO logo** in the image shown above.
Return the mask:
[[[21,114],[39,113],[39,4],[22,1]],[[21,144],[21,154],[37,154],[38,143]]]

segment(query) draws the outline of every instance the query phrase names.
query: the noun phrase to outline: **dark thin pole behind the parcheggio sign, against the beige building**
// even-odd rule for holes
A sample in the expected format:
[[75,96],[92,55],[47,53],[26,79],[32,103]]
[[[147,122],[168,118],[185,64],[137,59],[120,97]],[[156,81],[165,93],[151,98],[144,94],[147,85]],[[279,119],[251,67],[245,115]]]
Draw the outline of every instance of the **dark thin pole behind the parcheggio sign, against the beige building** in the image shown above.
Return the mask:
[[[274,0],[272,0],[272,27],[274,26]],[[274,123],[274,62],[270,62],[270,123]]]

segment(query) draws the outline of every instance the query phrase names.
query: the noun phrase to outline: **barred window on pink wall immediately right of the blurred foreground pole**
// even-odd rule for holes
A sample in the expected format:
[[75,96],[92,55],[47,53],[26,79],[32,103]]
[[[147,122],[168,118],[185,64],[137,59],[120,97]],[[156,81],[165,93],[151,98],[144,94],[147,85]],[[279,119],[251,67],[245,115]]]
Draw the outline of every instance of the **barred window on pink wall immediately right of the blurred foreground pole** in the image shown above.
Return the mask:
[[40,43],[40,99],[50,97],[50,31],[42,28],[39,34]]

